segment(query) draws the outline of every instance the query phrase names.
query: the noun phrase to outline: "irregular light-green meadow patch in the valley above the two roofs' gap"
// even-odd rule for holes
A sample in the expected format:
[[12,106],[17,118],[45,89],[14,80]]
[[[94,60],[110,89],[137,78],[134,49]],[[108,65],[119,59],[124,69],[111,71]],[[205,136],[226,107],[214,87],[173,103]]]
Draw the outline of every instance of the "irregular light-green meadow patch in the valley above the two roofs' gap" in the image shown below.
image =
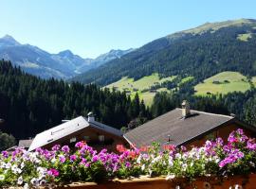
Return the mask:
[[[158,74],[153,74],[151,76],[142,77],[135,81],[134,78],[122,77],[117,82],[109,84],[106,87],[110,88],[110,89],[112,89],[114,87],[120,91],[124,91],[124,90],[130,91],[132,98],[137,93],[139,95],[139,98],[143,99],[147,106],[150,106],[153,102],[155,93],[151,93],[151,92],[142,93],[142,91],[145,89],[150,89],[152,86],[154,86],[157,83],[161,84],[164,81],[172,81],[172,80],[174,80],[174,78],[175,77],[159,78]],[[137,91],[135,91],[135,89]],[[168,90],[166,88],[160,88],[160,89],[156,90],[156,92],[163,92],[163,91],[168,92]]]

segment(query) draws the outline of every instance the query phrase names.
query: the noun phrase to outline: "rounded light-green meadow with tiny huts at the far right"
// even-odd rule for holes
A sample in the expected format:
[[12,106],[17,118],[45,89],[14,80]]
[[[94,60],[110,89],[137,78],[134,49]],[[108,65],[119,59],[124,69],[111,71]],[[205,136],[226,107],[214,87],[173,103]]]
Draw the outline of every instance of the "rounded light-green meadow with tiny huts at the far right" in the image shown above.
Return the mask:
[[[256,83],[256,77],[252,82]],[[222,72],[204,80],[194,87],[197,95],[228,94],[231,92],[246,92],[250,85],[247,77],[238,72]]]

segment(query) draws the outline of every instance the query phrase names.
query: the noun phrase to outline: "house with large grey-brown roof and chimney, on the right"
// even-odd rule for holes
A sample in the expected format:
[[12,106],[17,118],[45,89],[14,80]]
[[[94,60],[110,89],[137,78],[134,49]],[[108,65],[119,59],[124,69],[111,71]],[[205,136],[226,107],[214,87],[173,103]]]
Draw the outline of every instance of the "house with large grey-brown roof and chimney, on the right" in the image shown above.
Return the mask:
[[154,120],[132,129],[124,138],[136,146],[149,146],[153,142],[162,145],[201,146],[207,140],[221,137],[227,140],[234,129],[244,129],[255,137],[256,129],[237,120],[233,116],[190,110],[187,101],[182,109],[167,112]]

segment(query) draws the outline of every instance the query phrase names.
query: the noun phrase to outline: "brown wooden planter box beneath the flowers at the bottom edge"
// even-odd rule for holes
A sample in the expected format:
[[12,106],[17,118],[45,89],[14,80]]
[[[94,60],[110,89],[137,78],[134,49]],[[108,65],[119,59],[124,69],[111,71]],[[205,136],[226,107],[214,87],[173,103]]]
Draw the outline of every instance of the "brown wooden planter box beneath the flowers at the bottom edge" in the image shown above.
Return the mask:
[[58,186],[58,189],[255,189],[256,174],[233,176],[223,180],[199,178],[195,181],[184,179],[166,180],[165,178],[140,178],[133,180],[112,180],[105,183],[85,182]]

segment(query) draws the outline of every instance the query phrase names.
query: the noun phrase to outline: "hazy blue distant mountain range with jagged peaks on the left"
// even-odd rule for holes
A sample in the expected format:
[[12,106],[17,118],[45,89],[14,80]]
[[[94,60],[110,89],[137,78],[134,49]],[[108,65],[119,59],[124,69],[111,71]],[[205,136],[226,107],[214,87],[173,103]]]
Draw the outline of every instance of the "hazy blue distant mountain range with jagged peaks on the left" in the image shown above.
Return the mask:
[[99,58],[82,59],[70,50],[58,54],[50,54],[37,46],[21,44],[11,36],[0,38],[0,59],[10,60],[20,66],[25,72],[35,76],[67,79],[75,77],[84,71],[96,68],[108,60],[121,57],[131,50],[111,50]]

